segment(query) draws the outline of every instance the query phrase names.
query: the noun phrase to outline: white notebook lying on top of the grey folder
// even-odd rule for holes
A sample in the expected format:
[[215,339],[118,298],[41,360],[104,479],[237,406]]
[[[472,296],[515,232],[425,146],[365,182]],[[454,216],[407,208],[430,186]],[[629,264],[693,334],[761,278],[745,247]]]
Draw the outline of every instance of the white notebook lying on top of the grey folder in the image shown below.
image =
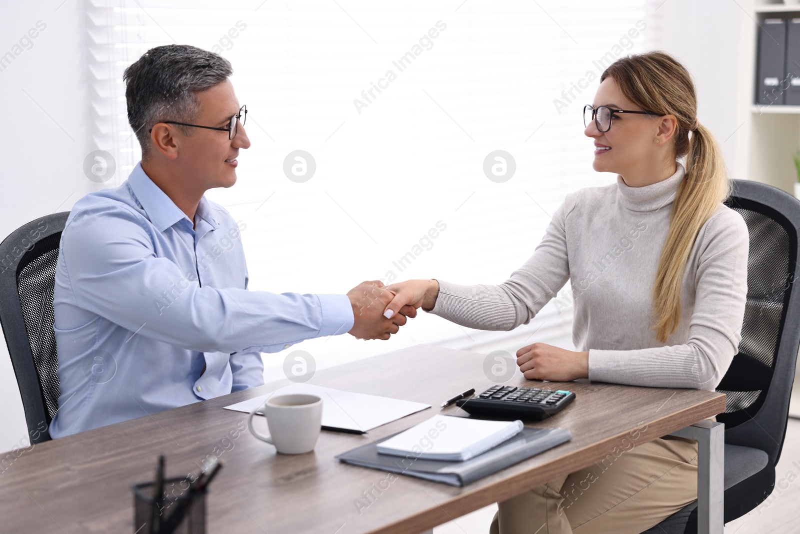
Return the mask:
[[422,460],[464,461],[522,432],[522,421],[433,416],[378,444],[378,452]]

